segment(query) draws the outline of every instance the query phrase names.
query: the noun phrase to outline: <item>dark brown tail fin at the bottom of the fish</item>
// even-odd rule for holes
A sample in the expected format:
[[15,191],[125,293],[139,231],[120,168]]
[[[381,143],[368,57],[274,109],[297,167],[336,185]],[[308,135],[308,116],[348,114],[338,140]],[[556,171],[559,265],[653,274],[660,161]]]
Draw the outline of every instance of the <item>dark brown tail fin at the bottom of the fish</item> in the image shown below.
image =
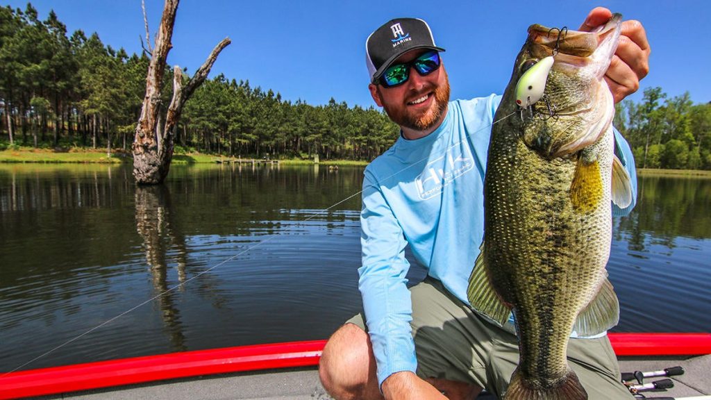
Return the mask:
[[587,400],[587,392],[583,389],[577,375],[569,371],[554,385],[544,387],[536,382],[528,381],[518,368],[511,376],[503,400]]

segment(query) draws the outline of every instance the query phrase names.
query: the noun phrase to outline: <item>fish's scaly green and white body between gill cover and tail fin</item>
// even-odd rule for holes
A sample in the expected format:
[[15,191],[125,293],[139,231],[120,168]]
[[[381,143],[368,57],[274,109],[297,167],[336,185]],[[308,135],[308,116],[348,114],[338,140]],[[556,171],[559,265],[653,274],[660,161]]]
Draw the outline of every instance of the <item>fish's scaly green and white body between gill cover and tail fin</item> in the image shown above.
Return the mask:
[[512,382],[545,390],[577,381],[566,349],[577,315],[606,278],[611,140],[609,132],[586,150],[599,152],[603,196],[584,211],[570,196],[574,157],[543,159],[519,140],[490,149],[484,246],[491,284],[515,315],[520,362]]

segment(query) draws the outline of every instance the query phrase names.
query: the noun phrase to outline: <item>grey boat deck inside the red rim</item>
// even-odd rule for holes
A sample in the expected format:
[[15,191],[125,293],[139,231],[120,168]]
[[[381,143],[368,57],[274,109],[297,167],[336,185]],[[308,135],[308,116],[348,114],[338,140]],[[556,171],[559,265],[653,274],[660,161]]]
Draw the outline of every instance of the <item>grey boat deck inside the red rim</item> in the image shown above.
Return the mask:
[[[645,391],[648,399],[656,396],[704,396],[711,395],[711,354],[698,357],[621,357],[623,372],[658,371],[681,366],[685,373],[671,377],[674,387],[662,391]],[[663,378],[646,379],[645,383]],[[120,386],[112,389],[82,391],[70,394],[42,396],[38,399],[73,400],[127,400],[127,399],[261,399],[261,400],[327,400],[331,399],[319,383],[319,374],[314,367],[296,369],[273,369],[262,372],[223,374],[191,379],[176,379]],[[482,394],[480,400],[494,400]]]

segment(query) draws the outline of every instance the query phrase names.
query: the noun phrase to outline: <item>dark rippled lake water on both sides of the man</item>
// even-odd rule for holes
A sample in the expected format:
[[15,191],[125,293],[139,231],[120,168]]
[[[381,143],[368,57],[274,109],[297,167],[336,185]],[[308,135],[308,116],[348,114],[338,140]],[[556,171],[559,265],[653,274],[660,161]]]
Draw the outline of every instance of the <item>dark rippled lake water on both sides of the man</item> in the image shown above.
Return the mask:
[[[327,338],[360,310],[362,174],[0,165],[0,372]],[[614,223],[614,330],[711,331],[711,179],[639,191]]]

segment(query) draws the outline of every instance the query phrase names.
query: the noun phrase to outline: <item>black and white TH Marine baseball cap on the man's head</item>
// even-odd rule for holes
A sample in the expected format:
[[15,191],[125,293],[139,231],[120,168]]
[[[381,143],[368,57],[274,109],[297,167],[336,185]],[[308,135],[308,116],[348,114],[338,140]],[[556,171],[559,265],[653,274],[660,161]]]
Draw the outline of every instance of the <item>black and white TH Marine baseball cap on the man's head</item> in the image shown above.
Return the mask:
[[415,48],[444,51],[434,44],[427,22],[417,18],[396,18],[370,33],[365,41],[365,62],[372,83],[402,54]]

